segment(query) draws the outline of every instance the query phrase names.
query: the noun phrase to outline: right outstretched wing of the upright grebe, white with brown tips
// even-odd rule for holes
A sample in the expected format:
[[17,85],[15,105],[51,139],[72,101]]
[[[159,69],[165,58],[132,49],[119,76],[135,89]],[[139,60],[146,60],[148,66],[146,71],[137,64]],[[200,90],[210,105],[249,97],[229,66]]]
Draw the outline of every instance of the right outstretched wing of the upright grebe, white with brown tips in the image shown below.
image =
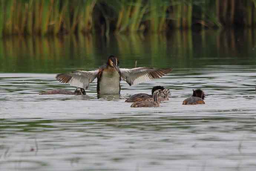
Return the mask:
[[154,78],[160,78],[173,69],[139,67],[133,69],[120,68],[119,70],[121,72],[121,79],[125,80],[131,86]]

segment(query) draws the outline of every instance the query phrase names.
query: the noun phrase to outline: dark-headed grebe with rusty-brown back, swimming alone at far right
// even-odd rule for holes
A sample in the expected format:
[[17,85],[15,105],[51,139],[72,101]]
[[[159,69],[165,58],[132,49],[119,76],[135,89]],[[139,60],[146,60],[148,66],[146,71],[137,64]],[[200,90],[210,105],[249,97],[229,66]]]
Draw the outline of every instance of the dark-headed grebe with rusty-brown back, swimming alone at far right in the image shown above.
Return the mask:
[[183,105],[199,105],[205,104],[204,102],[205,93],[200,89],[193,89],[192,97],[189,97],[183,101]]

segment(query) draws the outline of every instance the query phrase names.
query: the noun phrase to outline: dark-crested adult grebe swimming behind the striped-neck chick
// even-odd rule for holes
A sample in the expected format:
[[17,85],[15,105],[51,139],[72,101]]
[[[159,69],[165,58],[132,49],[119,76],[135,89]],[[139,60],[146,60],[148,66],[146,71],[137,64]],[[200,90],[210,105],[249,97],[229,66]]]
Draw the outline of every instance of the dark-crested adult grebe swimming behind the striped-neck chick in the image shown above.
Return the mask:
[[[164,90],[164,87],[163,86],[154,86],[152,88],[152,95],[149,95],[149,94],[146,94],[146,93],[138,93],[138,94],[135,94],[135,95],[132,95],[131,97],[129,97],[128,99],[126,99],[125,102],[140,102],[140,101],[144,101],[144,100],[147,100],[147,99],[150,99],[150,98],[153,98],[153,94],[156,90]],[[167,98],[160,98],[160,101],[166,101],[166,100],[169,100],[168,97]]]

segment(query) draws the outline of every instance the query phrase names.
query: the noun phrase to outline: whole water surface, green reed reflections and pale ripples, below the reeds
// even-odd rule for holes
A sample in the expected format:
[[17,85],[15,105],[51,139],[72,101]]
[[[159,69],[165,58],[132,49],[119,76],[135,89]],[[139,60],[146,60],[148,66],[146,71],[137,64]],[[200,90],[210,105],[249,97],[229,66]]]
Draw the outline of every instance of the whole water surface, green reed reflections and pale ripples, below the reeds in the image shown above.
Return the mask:
[[[253,30],[0,40],[0,170],[255,170],[256,39]],[[56,73],[95,69],[114,54],[122,68],[172,67],[160,79],[122,82],[120,96],[38,95],[73,87]],[[171,89],[160,108],[125,98]],[[206,105],[183,106],[192,89]]]

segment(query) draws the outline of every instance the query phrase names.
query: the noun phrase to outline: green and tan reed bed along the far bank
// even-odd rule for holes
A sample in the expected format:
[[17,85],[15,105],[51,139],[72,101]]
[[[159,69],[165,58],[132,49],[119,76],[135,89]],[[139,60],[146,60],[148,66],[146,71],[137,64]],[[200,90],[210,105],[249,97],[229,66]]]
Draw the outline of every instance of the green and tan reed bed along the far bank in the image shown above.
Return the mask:
[[0,0],[0,35],[255,27],[256,0]]

